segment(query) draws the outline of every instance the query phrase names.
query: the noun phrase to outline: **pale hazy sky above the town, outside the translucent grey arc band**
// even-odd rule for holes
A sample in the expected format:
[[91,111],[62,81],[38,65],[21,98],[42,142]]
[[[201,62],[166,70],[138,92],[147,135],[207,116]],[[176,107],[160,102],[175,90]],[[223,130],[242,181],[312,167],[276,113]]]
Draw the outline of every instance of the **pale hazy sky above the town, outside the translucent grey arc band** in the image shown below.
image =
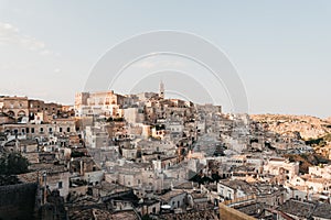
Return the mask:
[[[137,34],[174,30],[196,34],[226,54],[245,86],[249,113],[327,118],[331,116],[330,21],[328,0],[0,0],[0,95],[72,105],[111,47]],[[192,61],[148,57],[132,64],[120,81],[130,74],[157,73],[149,84],[136,84],[130,90],[157,91],[161,78],[166,91],[173,91],[185,79],[167,79],[181,72],[193,78],[209,74]],[[122,86],[115,88],[127,92]],[[189,98],[203,102],[194,88]],[[223,96],[223,90],[209,92]],[[225,111],[231,106],[226,98],[221,105]]]

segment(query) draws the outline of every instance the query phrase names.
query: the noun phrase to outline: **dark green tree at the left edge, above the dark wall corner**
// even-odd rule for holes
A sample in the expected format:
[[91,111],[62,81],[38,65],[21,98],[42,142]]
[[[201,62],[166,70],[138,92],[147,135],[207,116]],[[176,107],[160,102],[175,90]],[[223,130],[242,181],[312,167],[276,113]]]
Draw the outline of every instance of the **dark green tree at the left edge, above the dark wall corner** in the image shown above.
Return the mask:
[[29,172],[29,161],[20,153],[2,154],[0,157],[0,175],[17,175]]

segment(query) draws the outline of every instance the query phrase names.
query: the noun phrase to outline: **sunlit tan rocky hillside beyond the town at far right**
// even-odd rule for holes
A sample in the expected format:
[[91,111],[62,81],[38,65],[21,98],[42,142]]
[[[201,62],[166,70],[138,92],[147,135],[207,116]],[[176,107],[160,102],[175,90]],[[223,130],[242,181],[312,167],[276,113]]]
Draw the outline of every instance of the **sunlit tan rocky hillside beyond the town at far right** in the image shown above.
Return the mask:
[[331,133],[331,120],[309,116],[255,114],[250,119],[264,123],[273,132],[290,134],[299,132],[305,140],[318,139]]

